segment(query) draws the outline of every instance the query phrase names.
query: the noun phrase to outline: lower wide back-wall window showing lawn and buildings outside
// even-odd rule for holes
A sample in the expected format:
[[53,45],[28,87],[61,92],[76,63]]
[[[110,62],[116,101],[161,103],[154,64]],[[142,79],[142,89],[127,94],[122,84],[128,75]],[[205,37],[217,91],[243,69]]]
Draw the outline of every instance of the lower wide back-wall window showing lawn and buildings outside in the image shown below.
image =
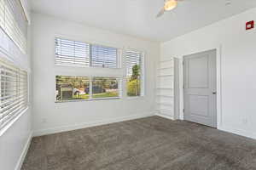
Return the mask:
[[119,78],[56,76],[56,101],[119,97]]

